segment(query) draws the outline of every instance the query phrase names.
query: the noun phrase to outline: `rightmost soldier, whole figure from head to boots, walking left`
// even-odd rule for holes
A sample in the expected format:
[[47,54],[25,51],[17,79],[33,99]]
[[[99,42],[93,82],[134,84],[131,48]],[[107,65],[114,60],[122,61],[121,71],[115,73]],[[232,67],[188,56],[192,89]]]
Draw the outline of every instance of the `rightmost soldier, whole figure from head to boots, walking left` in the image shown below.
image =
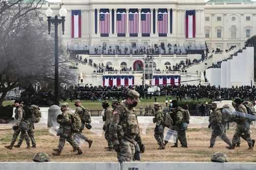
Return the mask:
[[253,150],[253,142],[251,140],[250,135],[250,120],[246,118],[246,107],[242,104],[242,100],[240,98],[236,98],[234,100],[233,106],[238,112],[238,115],[235,120],[235,122],[237,123],[237,129],[233,135],[232,145],[226,148],[233,150],[237,143],[240,142],[240,137],[243,136],[243,138],[246,139],[249,145],[248,150]]

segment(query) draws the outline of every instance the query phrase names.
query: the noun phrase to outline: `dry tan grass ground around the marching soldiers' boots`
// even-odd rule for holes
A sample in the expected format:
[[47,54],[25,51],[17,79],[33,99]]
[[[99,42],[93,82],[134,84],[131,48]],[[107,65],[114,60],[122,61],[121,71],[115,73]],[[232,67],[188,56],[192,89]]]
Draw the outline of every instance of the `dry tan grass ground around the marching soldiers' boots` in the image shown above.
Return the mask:
[[[227,135],[232,138],[233,129],[227,130]],[[256,134],[256,130],[251,130],[252,136]],[[204,162],[210,161],[210,157],[214,152],[224,152],[228,155],[230,162],[255,162],[256,153],[246,151],[248,148],[247,142],[241,140],[241,148],[229,151],[225,147],[227,146],[220,138],[217,138],[215,147],[209,149],[210,139],[209,129],[189,129],[187,131],[188,149],[184,148],[171,148],[172,143],[166,145],[166,149],[157,150],[158,145],[154,138],[154,130],[148,129],[146,135],[142,135],[142,140],[146,146],[146,151],[142,155],[142,161],[196,161]],[[91,162],[116,162],[115,152],[106,152],[104,147],[107,146],[107,142],[104,137],[97,136],[90,131],[85,131],[84,134],[93,139],[92,148],[88,149],[88,143],[82,144],[83,155],[75,156],[76,153],[72,152],[72,147],[66,143],[65,148],[61,156],[51,156],[51,161],[91,161]],[[4,145],[9,144],[12,136],[12,130],[0,131],[0,161],[32,161],[32,157],[37,152],[46,152],[51,155],[52,149],[58,145],[58,137],[50,134],[48,129],[36,130],[37,148],[27,150],[25,142],[22,147],[13,150],[7,150]]]

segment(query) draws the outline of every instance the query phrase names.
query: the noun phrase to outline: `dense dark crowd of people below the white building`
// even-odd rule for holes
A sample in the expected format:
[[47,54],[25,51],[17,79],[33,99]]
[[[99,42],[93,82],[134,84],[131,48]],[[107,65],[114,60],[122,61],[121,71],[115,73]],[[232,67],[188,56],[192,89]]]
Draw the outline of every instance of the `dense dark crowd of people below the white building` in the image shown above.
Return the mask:
[[129,89],[135,89],[140,93],[140,96],[146,99],[152,99],[155,94],[175,96],[177,101],[184,99],[199,100],[202,98],[209,98],[212,100],[231,100],[234,98],[241,98],[243,100],[254,101],[256,95],[255,86],[241,86],[231,88],[220,88],[216,86],[194,86],[194,85],[181,85],[181,86],[159,86],[160,91],[156,93],[147,92],[147,88],[140,86],[130,87],[106,87],[106,86],[77,86],[65,90],[62,98],[67,99],[81,99],[81,100],[104,100],[104,99],[118,99],[122,100],[123,94]]

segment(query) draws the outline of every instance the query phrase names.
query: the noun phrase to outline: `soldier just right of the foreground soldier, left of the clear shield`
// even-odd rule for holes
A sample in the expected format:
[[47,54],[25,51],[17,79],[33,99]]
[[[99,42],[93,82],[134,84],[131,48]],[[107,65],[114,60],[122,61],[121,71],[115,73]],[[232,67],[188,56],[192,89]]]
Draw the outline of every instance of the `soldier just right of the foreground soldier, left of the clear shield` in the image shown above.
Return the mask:
[[159,150],[164,150],[164,141],[163,141],[163,133],[164,133],[164,114],[161,106],[159,103],[154,104],[154,109],[155,109],[155,117],[153,118],[153,123],[156,123],[156,128],[155,128],[155,138],[157,140],[157,143],[159,145]]

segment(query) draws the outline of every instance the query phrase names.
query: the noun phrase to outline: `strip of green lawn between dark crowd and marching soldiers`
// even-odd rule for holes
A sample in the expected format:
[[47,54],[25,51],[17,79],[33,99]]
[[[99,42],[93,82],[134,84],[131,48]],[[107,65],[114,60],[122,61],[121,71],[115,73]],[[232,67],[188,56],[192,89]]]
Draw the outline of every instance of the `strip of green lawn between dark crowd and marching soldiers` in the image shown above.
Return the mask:
[[[162,106],[165,106],[166,98],[167,98],[168,101],[170,100],[170,98],[172,100],[176,100],[176,98],[174,98],[173,96],[166,96],[166,97],[165,96],[158,96],[157,97],[157,102],[160,103]],[[82,105],[84,107],[86,107],[86,108],[88,108],[90,110],[101,110],[102,109],[101,102],[98,102],[98,101],[95,101],[95,102],[93,102],[93,101],[81,101],[81,102],[82,102]],[[154,102],[155,102],[154,98],[152,98],[152,99],[150,99],[150,98],[148,98],[148,99],[141,99],[141,102],[138,104],[136,109],[139,109],[140,106],[145,107],[145,106],[148,106],[148,105],[153,105]],[[197,102],[197,101],[193,101],[192,99],[187,99],[187,100],[183,99],[182,100],[182,103],[191,103],[191,102]],[[198,103],[205,103],[205,102],[210,103],[211,99],[202,98],[202,99],[200,99],[198,101]],[[74,101],[70,102],[68,100],[67,103],[69,103],[70,108],[73,108],[73,109],[75,108]],[[111,101],[110,101],[110,103],[111,103]],[[11,104],[13,104],[13,102],[11,102],[11,101],[5,101],[4,102],[4,106],[11,105]]]

